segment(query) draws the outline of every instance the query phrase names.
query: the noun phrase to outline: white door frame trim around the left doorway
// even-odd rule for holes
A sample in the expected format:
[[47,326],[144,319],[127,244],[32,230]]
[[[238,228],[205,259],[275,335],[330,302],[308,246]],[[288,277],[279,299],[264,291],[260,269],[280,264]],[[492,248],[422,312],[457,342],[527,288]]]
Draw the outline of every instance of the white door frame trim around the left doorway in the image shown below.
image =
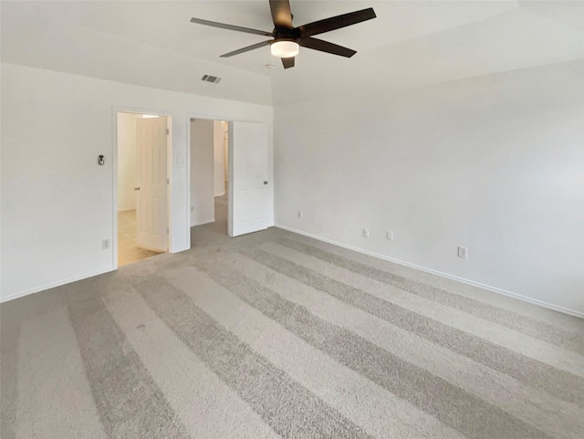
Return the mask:
[[[165,116],[170,120],[170,134],[166,140],[166,154],[168,158],[167,164],[167,178],[169,179],[168,184],[168,197],[167,197],[167,214],[168,218],[168,228],[169,234],[167,236],[168,251],[172,253],[172,120],[176,115],[172,111],[167,110],[152,110],[152,109],[141,109],[137,107],[120,107],[113,106],[111,108],[111,120],[112,120],[112,152],[111,152],[111,164],[112,164],[112,206],[111,206],[111,217],[112,217],[112,230],[113,234],[111,236],[111,250],[112,250],[112,269],[118,269],[118,113],[135,113],[135,114],[156,114],[158,116]],[[188,150],[187,150],[188,152]],[[108,160],[106,158],[106,160]],[[190,170],[189,170],[190,171]],[[190,209],[189,209],[190,211]],[[190,213],[190,212],[189,212]]]

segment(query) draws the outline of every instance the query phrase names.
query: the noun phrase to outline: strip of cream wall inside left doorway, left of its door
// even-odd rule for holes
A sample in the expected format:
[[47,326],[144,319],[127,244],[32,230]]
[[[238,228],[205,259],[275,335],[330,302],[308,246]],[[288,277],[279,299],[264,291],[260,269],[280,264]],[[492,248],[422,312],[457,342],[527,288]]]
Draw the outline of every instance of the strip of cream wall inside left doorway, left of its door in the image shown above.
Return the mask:
[[136,209],[136,120],[141,114],[118,113],[118,211]]

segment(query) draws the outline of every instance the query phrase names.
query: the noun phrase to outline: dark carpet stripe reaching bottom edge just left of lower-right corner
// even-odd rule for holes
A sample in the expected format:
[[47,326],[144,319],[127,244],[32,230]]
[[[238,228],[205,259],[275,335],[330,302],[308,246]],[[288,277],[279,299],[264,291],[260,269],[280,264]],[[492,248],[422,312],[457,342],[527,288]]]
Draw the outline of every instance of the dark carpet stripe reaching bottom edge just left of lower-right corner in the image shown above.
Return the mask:
[[235,270],[225,270],[227,266],[221,265],[220,259],[201,258],[195,265],[297,337],[467,437],[551,437],[349,330],[318,319],[307,308],[282,298],[249,277]]

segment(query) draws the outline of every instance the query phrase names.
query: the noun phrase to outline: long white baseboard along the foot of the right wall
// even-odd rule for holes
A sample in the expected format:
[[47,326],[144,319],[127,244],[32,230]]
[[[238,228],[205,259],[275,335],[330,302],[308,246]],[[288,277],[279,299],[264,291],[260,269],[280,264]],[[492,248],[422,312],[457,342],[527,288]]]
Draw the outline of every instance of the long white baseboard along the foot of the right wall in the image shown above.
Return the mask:
[[295,233],[298,235],[308,236],[310,238],[314,238],[314,239],[317,239],[318,241],[332,244],[334,246],[347,248],[349,250],[353,250],[355,252],[362,253],[363,255],[378,257],[380,259],[383,259],[383,260],[386,260],[389,262],[393,262],[395,264],[399,264],[399,265],[404,266],[404,267],[415,268],[417,270],[425,271],[426,273],[431,273],[431,274],[436,275],[436,276],[446,277],[448,279],[453,279],[453,280],[456,280],[458,282],[462,282],[462,283],[467,284],[467,285],[472,285],[473,287],[480,287],[480,288],[486,289],[488,291],[493,291],[494,293],[502,294],[504,296],[508,296],[511,298],[517,298],[519,300],[523,300],[524,302],[532,303],[534,305],[538,305],[538,306],[543,307],[543,308],[553,309],[555,311],[562,312],[562,313],[568,314],[570,316],[579,317],[580,319],[584,319],[584,313],[579,312],[579,311],[575,311],[574,309],[558,307],[558,305],[554,305],[554,304],[547,303],[547,302],[544,302],[541,300],[537,300],[536,298],[527,298],[526,296],[522,296],[520,294],[513,293],[511,291],[506,291],[505,289],[491,287],[489,285],[481,284],[480,282],[475,282],[474,280],[464,279],[464,277],[457,277],[454,275],[449,275],[448,273],[443,273],[442,271],[433,270],[432,268],[428,268],[428,267],[417,266],[417,265],[411,264],[409,262],[401,261],[400,259],[394,259],[394,258],[389,257],[389,256],[380,255],[379,253],[374,253],[374,252],[370,252],[368,250],[363,250],[362,248],[359,248],[359,247],[348,246],[346,244],[342,244],[342,243],[339,243],[337,241],[333,241],[332,239],[328,239],[328,238],[318,236],[318,235],[312,235],[312,234],[309,234],[307,232],[303,232],[301,230],[297,230],[297,229],[292,228],[292,227],[287,227],[286,225],[274,225],[274,226],[279,228],[279,229],[287,230],[288,232],[292,232],[292,233]]

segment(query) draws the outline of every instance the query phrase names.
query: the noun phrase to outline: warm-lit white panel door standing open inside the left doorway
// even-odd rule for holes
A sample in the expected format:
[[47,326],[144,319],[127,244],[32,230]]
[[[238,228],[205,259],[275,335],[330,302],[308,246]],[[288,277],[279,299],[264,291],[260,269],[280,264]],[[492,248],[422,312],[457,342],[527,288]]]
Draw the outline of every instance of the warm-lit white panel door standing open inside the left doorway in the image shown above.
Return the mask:
[[136,244],[168,250],[166,118],[136,120]]

